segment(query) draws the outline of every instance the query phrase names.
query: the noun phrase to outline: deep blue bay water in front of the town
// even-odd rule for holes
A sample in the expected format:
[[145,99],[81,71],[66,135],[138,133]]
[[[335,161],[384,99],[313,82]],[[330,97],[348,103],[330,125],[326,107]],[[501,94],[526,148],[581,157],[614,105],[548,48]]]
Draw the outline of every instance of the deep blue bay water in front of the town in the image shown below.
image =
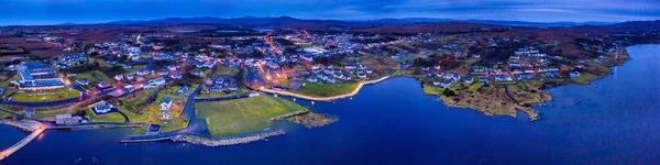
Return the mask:
[[[128,130],[48,131],[0,164],[660,164],[660,45],[628,51],[615,75],[549,90],[554,107],[538,107],[538,122],[447,108],[415,79],[393,78],[310,106],[339,122],[279,122],[287,134],[268,142],[122,144]],[[0,147],[26,135],[0,133]]]

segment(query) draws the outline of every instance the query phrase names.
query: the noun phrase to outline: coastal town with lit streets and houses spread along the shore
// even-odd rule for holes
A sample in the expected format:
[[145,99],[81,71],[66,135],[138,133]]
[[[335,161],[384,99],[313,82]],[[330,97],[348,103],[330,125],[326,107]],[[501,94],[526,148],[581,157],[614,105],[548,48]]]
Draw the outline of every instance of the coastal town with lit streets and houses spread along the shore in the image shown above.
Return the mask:
[[[573,32],[532,38],[509,33],[518,31],[509,26],[442,33],[206,24],[136,29],[110,30],[107,36],[89,33],[109,30],[86,26],[0,29],[3,42],[28,45],[0,47],[0,114],[59,129],[132,128],[124,142],[274,135],[279,133],[270,128],[277,120],[314,120],[300,122],[308,127],[337,121],[296,98],[312,103],[351,98],[364,85],[406,76],[448,106],[487,116],[516,117],[522,110],[537,120],[531,107],[551,100],[544,89],[588,85],[629,59],[624,47],[630,37],[658,36]],[[57,48],[35,56],[28,55],[30,45]]]

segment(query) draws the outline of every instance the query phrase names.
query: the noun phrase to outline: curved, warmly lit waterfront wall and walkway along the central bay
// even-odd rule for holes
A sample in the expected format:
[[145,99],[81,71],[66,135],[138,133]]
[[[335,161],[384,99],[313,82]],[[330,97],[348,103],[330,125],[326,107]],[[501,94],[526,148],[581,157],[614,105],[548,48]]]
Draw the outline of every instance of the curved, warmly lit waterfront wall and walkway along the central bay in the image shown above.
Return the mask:
[[333,96],[333,97],[310,97],[310,96],[294,94],[294,92],[289,92],[289,91],[278,91],[278,90],[273,90],[273,89],[265,89],[263,87],[260,88],[258,90],[263,91],[263,92],[267,92],[267,94],[289,96],[289,97],[310,100],[310,101],[334,101],[334,100],[339,100],[339,99],[345,99],[345,98],[353,97],[353,96],[358,95],[358,92],[360,92],[360,89],[362,89],[362,87],[364,87],[366,85],[378,84],[389,77],[391,76],[385,76],[385,77],[374,79],[374,80],[362,81],[358,85],[358,88],[355,88],[355,90],[351,91],[350,94],[344,94],[344,95]]

